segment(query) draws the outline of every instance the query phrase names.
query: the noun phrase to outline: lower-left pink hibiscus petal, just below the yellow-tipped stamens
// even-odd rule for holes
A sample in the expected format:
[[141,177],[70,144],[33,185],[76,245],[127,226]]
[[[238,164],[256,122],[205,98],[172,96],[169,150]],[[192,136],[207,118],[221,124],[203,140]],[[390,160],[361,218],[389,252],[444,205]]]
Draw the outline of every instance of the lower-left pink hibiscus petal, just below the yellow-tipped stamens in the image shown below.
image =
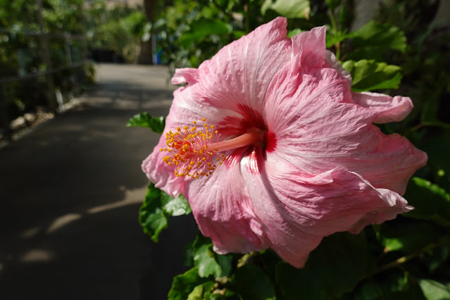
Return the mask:
[[243,151],[236,150],[213,174],[192,180],[183,191],[201,233],[211,237],[219,254],[268,248],[239,170]]

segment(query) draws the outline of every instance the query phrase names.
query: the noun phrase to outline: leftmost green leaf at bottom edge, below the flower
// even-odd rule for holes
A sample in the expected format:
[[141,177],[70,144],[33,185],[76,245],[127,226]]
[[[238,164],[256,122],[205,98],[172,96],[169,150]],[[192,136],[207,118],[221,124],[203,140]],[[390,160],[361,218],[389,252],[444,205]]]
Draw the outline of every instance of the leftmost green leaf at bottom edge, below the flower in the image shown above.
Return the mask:
[[172,287],[168,294],[168,300],[186,300],[194,287],[208,281],[199,277],[199,270],[192,268],[186,273],[173,277]]

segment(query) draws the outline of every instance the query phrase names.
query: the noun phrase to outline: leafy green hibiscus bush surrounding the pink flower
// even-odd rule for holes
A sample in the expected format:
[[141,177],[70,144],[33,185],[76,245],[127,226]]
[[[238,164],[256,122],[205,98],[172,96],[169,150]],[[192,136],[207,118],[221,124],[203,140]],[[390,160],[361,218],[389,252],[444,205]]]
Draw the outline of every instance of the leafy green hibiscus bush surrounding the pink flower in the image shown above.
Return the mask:
[[[353,76],[354,91],[411,96],[411,115],[380,127],[429,156],[405,195],[414,211],[360,235],[325,237],[302,269],[271,250],[220,256],[199,234],[186,250],[192,268],[174,278],[168,299],[450,299],[450,35],[449,27],[432,23],[438,6],[385,0],[353,31],[351,0],[175,0],[161,11],[152,26],[172,70],[197,67],[276,15],[288,18],[289,35],[327,25],[327,47]],[[164,123],[142,113],[129,125],[161,133]],[[185,199],[150,184],[139,221],[157,242],[171,216],[187,213]]]

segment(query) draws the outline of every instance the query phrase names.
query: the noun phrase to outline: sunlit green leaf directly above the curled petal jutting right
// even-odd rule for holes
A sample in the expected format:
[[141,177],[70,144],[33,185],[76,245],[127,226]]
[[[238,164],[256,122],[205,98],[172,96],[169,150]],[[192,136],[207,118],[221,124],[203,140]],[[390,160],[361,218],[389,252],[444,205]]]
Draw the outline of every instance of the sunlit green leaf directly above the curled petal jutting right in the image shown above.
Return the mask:
[[351,90],[354,92],[397,89],[401,82],[401,68],[398,65],[387,65],[387,63],[363,59],[361,61],[345,61],[342,67],[349,71],[353,78]]

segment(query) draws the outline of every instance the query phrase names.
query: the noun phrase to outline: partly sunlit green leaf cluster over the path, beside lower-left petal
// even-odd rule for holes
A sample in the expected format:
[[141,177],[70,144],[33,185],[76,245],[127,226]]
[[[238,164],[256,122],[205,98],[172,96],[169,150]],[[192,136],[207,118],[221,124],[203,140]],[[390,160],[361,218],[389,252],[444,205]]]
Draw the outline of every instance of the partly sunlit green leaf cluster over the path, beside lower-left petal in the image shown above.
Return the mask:
[[177,198],[168,196],[157,189],[153,183],[149,184],[144,203],[139,208],[139,223],[142,229],[154,242],[158,242],[161,231],[168,226],[170,215],[187,215],[191,208],[182,196]]

